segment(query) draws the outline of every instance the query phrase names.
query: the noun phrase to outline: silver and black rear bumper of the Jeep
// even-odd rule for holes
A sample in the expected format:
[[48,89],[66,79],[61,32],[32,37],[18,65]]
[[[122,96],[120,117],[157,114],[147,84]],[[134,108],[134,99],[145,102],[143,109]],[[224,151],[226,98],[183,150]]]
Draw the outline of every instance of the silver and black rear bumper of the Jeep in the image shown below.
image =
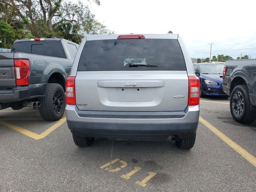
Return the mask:
[[186,138],[191,136],[195,134],[198,126],[199,106],[188,106],[185,112],[118,113],[120,118],[116,112],[81,112],[74,105],[66,106],[68,128],[73,134],[88,137],[133,139],[164,139],[169,136]]

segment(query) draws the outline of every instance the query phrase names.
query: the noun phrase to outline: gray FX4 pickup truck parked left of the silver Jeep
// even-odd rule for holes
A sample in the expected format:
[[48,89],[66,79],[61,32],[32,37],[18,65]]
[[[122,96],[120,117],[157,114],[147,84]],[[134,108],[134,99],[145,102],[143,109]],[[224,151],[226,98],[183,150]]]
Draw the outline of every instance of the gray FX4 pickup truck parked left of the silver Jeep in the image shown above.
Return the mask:
[[11,52],[0,53],[0,110],[38,107],[45,120],[59,120],[78,47],[58,38],[16,40]]

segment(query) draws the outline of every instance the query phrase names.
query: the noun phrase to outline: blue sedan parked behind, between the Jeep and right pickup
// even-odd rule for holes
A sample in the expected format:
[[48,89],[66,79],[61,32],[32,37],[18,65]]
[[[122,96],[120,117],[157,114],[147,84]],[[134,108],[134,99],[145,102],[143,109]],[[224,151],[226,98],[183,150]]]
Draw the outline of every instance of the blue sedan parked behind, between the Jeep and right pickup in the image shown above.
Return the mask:
[[200,97],[204,95],[228,96],[222,90],[222,63],[194,64],[196,75],[200,80]]

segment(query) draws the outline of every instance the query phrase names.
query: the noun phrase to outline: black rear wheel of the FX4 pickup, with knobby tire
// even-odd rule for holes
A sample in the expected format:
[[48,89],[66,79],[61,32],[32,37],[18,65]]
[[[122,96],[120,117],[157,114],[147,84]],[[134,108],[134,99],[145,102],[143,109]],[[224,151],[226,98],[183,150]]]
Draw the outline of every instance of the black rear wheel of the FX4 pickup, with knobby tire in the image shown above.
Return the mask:
[[39,112],[44,120],[56,121],[62,118],[66,107],[66,97],[60,84],[47,84],[45,97],[40,102]]

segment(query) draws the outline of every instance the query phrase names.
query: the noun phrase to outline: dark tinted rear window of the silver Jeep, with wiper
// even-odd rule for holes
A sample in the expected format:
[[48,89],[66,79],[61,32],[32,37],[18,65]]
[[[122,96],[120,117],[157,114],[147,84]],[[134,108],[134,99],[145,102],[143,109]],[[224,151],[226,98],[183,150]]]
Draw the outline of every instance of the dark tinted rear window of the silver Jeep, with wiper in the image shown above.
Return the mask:
[[186,64],[178,40],[111,39],[86,42],[78,71],[127,70],[186,70]]

